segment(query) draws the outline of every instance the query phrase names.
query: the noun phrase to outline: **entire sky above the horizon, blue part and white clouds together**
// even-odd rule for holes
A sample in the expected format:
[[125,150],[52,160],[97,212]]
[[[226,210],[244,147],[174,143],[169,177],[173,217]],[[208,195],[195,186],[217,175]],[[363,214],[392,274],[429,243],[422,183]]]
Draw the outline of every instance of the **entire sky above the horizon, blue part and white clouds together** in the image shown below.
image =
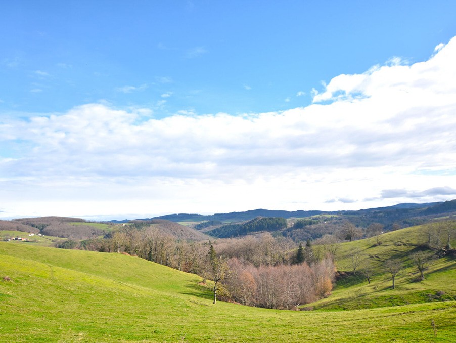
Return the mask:
[[16,1],[0,218],[456,198],[454,1]]

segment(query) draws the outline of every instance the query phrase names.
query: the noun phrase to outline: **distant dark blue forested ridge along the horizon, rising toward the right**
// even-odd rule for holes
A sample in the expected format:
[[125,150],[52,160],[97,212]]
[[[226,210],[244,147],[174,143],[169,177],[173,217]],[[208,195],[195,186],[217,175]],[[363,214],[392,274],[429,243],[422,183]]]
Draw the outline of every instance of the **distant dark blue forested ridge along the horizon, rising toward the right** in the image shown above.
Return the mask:
[[215,215],[210,216],[179,213],[155,217],[153,219],[166,219],[172,222],[219,221],[223,223],[233,223],[249,221],[257,217],[306,218],[327,214],[346,217],[356,225],[369,225],[372,222],[379,222],[385,226],[390,226],[392,223],[399,223],[402,226],[407,226],[422,223],[425,216],[440,215],[442,213],[456,214],[456,200],[423,204],[403,203],[388,207],[360,209],[357,211],[285,211],[254,209],[245,212],[215,213]]

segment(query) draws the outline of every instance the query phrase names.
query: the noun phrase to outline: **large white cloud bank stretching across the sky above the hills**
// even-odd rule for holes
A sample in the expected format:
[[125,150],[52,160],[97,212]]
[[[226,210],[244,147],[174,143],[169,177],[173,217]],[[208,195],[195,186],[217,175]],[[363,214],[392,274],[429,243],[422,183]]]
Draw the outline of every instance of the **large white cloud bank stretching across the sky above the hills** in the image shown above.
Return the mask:
[[59,203],[77,213],[46,213],[331,210],[451,199],[454,60],[456,38],[424,62],[336,76],[315,90],[312,105],[283,112],[183,110],[155,119],[87,104],[2,119],[0,138],[22,151],[0,155],[0,197],[11,199],[5,213],[21,206],[44,213]]

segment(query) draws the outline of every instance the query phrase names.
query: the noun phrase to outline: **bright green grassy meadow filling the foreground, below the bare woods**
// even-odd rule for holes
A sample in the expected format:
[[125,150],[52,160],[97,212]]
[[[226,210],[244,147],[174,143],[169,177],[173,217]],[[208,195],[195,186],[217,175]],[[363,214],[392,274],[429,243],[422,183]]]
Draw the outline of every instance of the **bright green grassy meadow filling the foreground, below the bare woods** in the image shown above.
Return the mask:
[[454,338],[455,301],[341,312],[213,306],[192,274],[122,254],[9,243],[0,242],[0,341]]

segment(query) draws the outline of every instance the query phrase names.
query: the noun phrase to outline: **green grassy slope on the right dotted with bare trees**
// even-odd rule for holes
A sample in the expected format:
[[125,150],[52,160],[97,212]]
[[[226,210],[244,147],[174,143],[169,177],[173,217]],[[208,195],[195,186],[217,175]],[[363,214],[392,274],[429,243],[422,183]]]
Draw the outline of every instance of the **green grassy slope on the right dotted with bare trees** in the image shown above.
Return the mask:
[[[423,249],[427,241],[427,227],[416,226],[388,232],[376,238],[342,243],[336,252],[337,269],[342,272],[333,294],[310,304],[314,309],[352,310],[384,306],[441,302],[456,299],[456,258],[446,256],[435,260],[419,281],[419,272],[410,254]],[[429,251],[432,253],[432,251]],[[358,271],[353,274],[353,258],[358,255]],[[385,261],[398,259],[403,270],[391,289],[391,275],[385,270]],[[370,266],[369,284],[362,269]]]

